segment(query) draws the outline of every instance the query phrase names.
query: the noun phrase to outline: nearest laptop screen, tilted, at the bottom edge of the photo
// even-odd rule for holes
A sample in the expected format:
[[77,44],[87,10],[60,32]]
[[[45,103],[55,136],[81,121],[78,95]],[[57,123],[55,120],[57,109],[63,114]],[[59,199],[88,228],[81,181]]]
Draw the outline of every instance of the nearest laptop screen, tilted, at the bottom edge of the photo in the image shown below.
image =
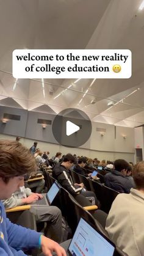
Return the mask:
[[68,252],[73,256],[112,256],[115,246],[84,219],[80,219]]

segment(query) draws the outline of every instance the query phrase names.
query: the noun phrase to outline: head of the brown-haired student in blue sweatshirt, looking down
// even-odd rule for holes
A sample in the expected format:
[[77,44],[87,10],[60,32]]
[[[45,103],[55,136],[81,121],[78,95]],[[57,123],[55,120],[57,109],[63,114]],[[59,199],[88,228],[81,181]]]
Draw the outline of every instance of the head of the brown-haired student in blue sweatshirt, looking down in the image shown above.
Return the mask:
[[0,200],[24,186],[24,175],[35,170],[35,158],[29,149],[18,141],[0,141]]

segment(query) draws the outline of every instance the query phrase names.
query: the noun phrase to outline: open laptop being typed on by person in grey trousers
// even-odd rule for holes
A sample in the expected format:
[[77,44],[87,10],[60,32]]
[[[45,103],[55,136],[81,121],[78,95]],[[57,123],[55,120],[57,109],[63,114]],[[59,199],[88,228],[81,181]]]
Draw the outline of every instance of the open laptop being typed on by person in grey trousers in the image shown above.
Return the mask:
[[52,184],[51,188],[49,189],[48,193],[46,194],[41,194],[43,196],[43,199],[37,200],[34,203],[31,203],[31,207],[44,207],[51,205],[52,201],[56,197],[57,193],[59,192],[59,185],[57,184],[56,181]]

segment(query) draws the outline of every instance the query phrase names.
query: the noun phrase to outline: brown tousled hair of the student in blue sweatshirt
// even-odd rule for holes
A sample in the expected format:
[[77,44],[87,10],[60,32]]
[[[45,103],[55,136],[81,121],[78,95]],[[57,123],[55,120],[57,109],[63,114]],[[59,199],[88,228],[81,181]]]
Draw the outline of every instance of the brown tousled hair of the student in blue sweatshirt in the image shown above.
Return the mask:
[[36,170],[35,158],[28,148],[18,141],[0,141],[0,177],[5,183]]

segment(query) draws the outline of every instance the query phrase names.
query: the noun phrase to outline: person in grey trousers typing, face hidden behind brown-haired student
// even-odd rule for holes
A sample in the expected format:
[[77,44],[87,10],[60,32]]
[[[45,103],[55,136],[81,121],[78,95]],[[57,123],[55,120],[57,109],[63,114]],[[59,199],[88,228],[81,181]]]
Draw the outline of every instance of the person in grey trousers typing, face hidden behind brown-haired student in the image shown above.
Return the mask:
[[[31,189],[24,188],[23,181],[21,185],[20,189],[14,192],[12,197],[2,200],[5,209],[30,204],[43,198],[41,194],[32,193]],[[37,205],[31,207],[30,211],[35,215],[37,222],[46,222],[45,235],[60,243],[62,238],[62,214],[59,208],[54,206],[38,207]]]

